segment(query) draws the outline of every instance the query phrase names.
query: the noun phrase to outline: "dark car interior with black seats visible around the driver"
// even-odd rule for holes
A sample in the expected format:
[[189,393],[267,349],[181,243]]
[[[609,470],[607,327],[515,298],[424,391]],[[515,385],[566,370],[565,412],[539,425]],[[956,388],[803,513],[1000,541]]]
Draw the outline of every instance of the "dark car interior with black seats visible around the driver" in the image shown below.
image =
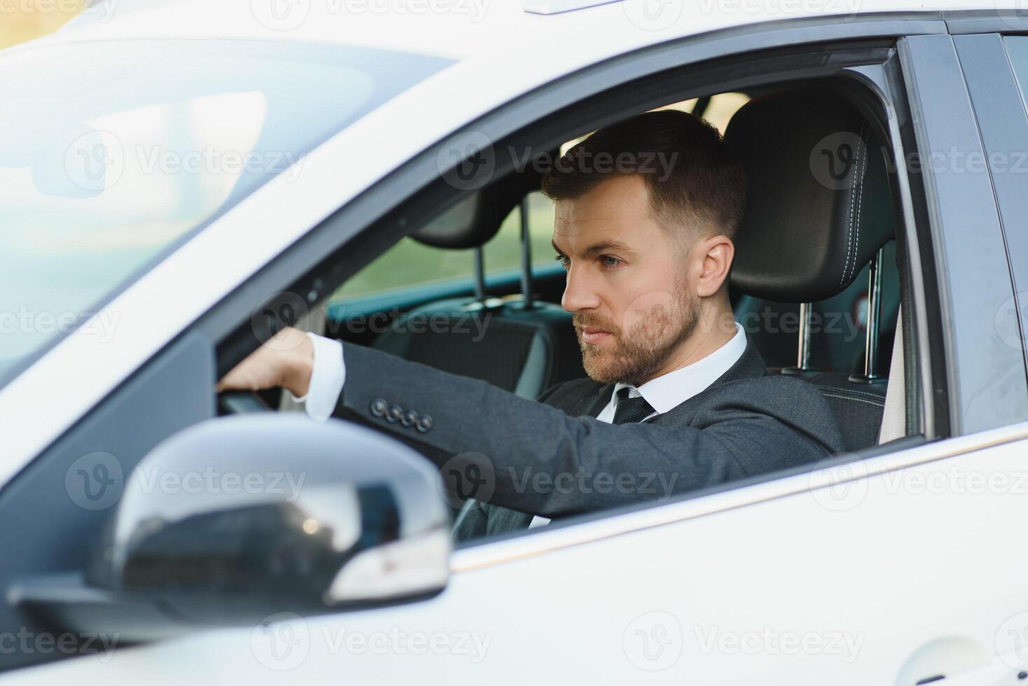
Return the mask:
[[[881,124],[861,98],[836,83],[731,93],[734,105],[726,112],[728,100],[714,94],[669,106],[718,119],[746,170],[747,206],[730,284],[736,320],[770,373],[797,376],[821,392],[847,451],[905,436],[902,255]],[[832,157],[831,178],[812,173],[815,155]],[[403,241],[430,246],[427,255],[435,257],[428,259],[440,264],[461,255],[469,275],[356,295],[344,283],[296,326],[527,398],[584,376],[573,315],[559,305],[563,268],[531,254],[534,233],[546,234],[548,242],[552,232],[552,208],[548,226],[530,226],[541,179],[529,165],[467,191],[392,249]],[[517,232],[520,265],[490,271],[486,256],[502,230]],[[396,280],[402,283],[403,275]],[[474,326],[404,326],[434,315]],[[389,325],[362,326],[375,317]],[[288,393],[263,397],[281,410],[301,409]]]

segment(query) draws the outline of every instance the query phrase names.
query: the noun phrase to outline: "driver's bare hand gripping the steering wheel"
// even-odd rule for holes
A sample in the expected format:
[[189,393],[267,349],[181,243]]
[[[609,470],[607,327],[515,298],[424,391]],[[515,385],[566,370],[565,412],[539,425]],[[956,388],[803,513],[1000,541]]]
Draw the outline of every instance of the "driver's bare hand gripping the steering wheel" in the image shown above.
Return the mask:
[[315,346],[299,329],[289,327],[269,338],[218,382],[223,390],[262,390],[282,386],[296,397],[307,394]]

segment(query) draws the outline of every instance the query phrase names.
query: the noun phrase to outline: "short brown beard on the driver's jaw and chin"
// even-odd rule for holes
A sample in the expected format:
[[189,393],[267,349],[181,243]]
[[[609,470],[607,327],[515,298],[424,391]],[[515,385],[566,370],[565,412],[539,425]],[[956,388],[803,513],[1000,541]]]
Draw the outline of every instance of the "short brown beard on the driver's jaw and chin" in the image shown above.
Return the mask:
[[[623,327],[599,314],[575,314],[585,373],[604,385],[641,385],[693,335],[699,318],[696,300],[681,285],[673,294],[648,294],[628,307]],[[614,345],[585,343],[586,327],[610,332]]]

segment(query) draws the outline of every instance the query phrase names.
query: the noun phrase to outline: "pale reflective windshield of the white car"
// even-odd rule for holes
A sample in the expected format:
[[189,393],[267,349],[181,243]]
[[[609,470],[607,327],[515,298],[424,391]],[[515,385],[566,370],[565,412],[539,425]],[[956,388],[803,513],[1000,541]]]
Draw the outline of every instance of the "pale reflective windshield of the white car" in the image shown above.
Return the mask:
[[[0,56],[0,387],[268,179],[295,177],[306,152],[447,64],[281,41]],[[116,326],[90,325],[102,337]]]

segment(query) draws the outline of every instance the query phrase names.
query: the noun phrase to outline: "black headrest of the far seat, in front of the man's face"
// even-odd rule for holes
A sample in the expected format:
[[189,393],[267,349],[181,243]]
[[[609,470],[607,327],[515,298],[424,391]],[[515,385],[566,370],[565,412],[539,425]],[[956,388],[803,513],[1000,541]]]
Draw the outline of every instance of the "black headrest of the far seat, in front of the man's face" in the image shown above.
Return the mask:
[[511,209],[526,193],[539,190],[542,174],[530,167],[513,172],[472,191],[411,236],[428,245],[462,250],[485,244],[500,231]]

